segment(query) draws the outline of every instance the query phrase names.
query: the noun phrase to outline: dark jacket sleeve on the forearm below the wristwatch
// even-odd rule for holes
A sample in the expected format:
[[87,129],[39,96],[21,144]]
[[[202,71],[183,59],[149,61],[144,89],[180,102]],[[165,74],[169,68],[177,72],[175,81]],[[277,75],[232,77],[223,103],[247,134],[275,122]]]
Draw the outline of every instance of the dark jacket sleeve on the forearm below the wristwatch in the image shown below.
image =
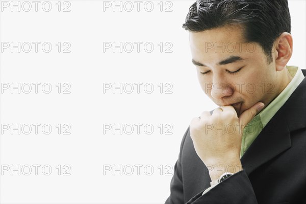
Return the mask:
[[209,192],[202,195],[198,193],[191,198],[186,204],[257,204],[256,195],[253,191],[252,184],[246,174],[242,170],[223,182],[212,188]]

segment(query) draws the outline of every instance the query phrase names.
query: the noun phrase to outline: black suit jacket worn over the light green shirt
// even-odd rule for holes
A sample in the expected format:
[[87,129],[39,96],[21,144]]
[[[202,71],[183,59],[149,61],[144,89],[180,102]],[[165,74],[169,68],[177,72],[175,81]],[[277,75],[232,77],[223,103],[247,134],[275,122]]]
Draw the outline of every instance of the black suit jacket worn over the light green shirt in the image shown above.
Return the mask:
[[[302,70],[305,76],[305,70]],[[306,203],[306,78],[241,157],[243,170],[210,187],[189,127],[166,203]]]

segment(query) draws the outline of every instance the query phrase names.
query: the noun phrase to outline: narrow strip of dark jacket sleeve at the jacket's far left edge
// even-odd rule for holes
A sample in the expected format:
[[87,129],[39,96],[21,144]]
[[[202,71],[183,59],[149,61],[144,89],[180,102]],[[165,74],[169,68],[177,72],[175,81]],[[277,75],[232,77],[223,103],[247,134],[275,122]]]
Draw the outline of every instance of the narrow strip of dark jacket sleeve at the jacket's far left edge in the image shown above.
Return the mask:
[[184,189],[182,179],[182,149],[188,132],[189,127],[187,128],[181,142],[179,158],[177,159],[174,165],[174,173],[170,183],[170,196],[168,197],[165,203],[184,203]]

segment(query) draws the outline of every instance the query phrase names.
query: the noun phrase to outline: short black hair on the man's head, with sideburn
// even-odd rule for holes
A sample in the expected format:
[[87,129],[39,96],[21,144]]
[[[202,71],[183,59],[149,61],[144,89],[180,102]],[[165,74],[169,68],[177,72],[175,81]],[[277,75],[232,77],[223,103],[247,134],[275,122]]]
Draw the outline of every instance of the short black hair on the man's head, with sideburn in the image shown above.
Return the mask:
[[246,42],[258,42],[268,62],[272,46],[283,32],[291,32],[287,0],[197,0],[189,8],[183,28],[200,32],[225,25],[242,25]]

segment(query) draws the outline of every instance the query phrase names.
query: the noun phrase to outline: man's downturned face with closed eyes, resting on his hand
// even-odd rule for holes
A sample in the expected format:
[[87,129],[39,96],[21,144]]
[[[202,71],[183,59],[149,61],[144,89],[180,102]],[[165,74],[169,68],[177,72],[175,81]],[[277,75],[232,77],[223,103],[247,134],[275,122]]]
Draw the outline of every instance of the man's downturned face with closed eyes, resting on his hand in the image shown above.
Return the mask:
[[232,105],[238,117],[257,102],[267,105],[279,92],[274,57],[268,64],[260,44],[246,43],[242,34],[241,27],[190,32],[201,88],[218,106]]

